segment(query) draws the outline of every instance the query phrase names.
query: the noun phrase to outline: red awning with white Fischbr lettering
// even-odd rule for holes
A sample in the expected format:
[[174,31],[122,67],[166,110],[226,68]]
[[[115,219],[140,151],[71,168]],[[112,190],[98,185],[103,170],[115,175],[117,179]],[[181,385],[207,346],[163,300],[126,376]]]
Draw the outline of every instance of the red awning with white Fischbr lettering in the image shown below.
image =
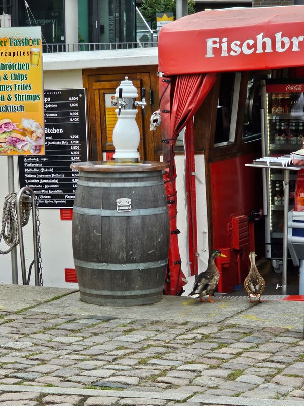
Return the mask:
[[162,27],[158,55],[166,76],[304,66],[304,6],[191,14]]

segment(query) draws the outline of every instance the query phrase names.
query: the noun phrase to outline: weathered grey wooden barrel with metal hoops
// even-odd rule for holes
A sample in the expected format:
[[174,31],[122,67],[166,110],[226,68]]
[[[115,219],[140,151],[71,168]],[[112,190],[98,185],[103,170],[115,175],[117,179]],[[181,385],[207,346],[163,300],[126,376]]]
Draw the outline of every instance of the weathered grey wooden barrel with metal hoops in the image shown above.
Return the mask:
[[155,303],[162,298],[169,249],[164,164],[92,164],[71,165],[79,170],[72,241],[81,300]]

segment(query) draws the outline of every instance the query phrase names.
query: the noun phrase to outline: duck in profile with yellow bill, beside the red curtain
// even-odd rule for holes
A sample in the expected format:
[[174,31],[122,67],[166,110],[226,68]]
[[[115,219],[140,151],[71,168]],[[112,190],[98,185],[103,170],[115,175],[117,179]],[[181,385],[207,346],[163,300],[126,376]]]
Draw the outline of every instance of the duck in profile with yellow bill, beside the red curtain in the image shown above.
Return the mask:
[[200,301],[203,302],[206,300],[202,297],[208,295],[209,303],[215,302],[215,300],[211,300],[211,295],[219,281],[219,272],[215,264],[215,259],[218,257],[226,257],[226,255],[222,254],[220,250],[213,250],[210,253],[207,269],[196,276],[191,293],[189,293],[188,297],[198,294]]

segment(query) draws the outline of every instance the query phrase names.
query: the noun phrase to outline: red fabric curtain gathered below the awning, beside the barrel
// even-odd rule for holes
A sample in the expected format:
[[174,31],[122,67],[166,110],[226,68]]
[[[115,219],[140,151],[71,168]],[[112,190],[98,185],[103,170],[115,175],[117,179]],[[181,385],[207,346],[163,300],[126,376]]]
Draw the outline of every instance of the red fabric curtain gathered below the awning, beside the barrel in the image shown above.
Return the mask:
[[[165,280],[164,293],[167,295],[178,295],[183,292],[183,285],[186,278],[181,269],[181,260],[178,248],[177,235],[179,231],[176,225],[177,198],[176,198],[176,170],[174,162],[174,147],[179,132],[186,127],[186,152],[191,155],[187,159],[186,174],[188,171],[194,172],[194,147],[193,147],[193,122],[192,117],[197,112],[206,95],[209,93],[215,82],[216,74],[189,74],[178,75],[172,78],[160,78],[160,112],[162,126],[163,160],[169,164],[169,169],[164,174],[165,189],[167,194],[169,219],[170,219],[170,244],[169,261]],[[188,175],[186,175],[188,178]],[[194,178],[194,177],[193,177]],[[191,181],[187,189],[191,189]],[[194,191],[195,193],[195,191]],[[195,221],[193,213],[193,195],[188,198],[189,214]],[[189,235],[195,238],[191,228]],[[193,247],[196,249],[196,246]],[[191,250],[194,252],[193,250]]]

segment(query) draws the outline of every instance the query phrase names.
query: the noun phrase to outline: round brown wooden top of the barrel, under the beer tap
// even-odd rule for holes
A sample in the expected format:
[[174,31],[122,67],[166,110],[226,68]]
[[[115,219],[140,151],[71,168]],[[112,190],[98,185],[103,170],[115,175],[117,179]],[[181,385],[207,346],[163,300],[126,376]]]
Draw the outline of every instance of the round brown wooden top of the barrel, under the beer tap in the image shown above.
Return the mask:
[[138,172],[138,171],[164,171],[169,167],[165,162],[139,161],[132,163],[118,163],[114,161],[75,162],[70,168],[78,171],[94,172]]

